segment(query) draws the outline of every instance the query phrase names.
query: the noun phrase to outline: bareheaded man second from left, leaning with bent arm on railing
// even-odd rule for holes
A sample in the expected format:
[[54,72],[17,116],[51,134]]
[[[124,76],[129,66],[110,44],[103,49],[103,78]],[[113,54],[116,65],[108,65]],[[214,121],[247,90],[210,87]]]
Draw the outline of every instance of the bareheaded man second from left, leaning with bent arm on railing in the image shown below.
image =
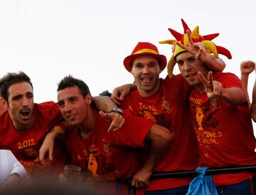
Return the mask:
[[[97,189],[103,186],[110,194],[127,193],[117,190],[117,180],[131,177],[133,186],[143,187],[149,183],[154,167],[169,148],[172,138],[169,130],[119,108],[107,114],[99,113],[85,82],[71,76],[58,84],[58,105],[65,121],[73,127],[65,140],[73,164],[87,171],[88,179]],[[100,116],[102,114],[122,115],[124,126],[109,133],[110,123]],[[49,140],[54,134],[48,134]],[[149,147],[150,154],[144,165],[137,160],[135,147]]]

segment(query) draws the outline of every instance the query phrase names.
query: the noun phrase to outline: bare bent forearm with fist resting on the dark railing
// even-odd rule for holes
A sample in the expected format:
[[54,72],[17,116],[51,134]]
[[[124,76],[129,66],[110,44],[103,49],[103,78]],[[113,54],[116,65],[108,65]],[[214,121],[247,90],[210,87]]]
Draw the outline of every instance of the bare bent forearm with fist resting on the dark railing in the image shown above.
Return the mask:
[[147,133],[145,143],[150,147],[149,158],[145,165],[139,169],[132,179],[132,186],[144,187],[149,184],[149,178],[160,160],[168,150],[173,137],[170,131],[163,126],[154,123]]

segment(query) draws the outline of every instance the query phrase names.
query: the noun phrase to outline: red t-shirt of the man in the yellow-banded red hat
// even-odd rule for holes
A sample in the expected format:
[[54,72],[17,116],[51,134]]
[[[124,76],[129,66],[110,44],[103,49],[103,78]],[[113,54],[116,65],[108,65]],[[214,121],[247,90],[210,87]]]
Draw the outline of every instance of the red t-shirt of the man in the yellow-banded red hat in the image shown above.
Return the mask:
[[[193,170],[197,167],[198,148],[188,104],[190,91],[191,87],[178,74],[171,79],[161,79],[159,90],[152,96],[142,97],[135,90],[122,101],[122,107],[127,111],[168,128],[174,135],[174,142],[155,172]],[[190,182],[191,178],[156,179],[146,190],[171,189]]]

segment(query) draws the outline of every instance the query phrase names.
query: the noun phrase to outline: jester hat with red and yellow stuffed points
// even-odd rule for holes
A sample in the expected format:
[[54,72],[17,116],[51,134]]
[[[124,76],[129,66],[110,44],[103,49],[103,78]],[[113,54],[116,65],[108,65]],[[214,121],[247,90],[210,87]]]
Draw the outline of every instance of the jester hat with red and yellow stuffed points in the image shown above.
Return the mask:
[[[172,35],[174,35],[174,38],[176,38],[176,40],[162,40],[159,41],[159,43],[168,43],[171,45],[174,45],[174,54],[171,56],[171,59],[168,62],[168,66],[167,66],[167,71],[168,71],[168,75],[169,77],[173,77],[173,70],[174,70],[174,65],[176,64],[176,56],[178,54],[180,54],[181,52],[186,52],[186,50],[184,50],[183,48],[179,47],[178,45],[176,45],[176,41],[182,43],[183,45],[189,46],[190,43],[188,41],[188,35],[186,34],[186,30],[190,30],[188,28],[188,25],[185,23],[185,21],[183,21],[183,19],[181,19],[183,28],[184,28],[184,33],[178,33],[176,30],[173,30],[171,28],[168,28],[168,30],[171,32]],[[191,31],[191,30],[190,30]],[[227,50],[226,48],[223,48],[221,46],[215,45],[211,40],[213,40],[214,38],[218,37],[219,33],[214,33],[214,34],[210,34],[210,35],[200,35],[199,34],[199,27],[196,26],[196,28],[191,32],[191,38],[193,40],[193,43],[196,42],[201,42],[204,47],[206,48],[206,52],[208,53],[213,53],[213,55],[218,58],[218,54],[222,54],[225,55],[226,57],[228,57],[228,59],[231,59],[231,53],[229,50]]]

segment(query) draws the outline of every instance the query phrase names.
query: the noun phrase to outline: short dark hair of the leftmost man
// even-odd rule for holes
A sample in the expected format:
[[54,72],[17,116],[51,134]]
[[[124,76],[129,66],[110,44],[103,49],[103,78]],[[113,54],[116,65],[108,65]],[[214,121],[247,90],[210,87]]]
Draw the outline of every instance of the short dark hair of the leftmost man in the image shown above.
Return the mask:
[[28,82],[33,89],[33,84],[31,83],[31,79],[24,72],[9,72],[1,77],[0,79],[0,95],[4,98],[4,100],[8,102],[8,89],[11,85],[20,83],[20,82]]

